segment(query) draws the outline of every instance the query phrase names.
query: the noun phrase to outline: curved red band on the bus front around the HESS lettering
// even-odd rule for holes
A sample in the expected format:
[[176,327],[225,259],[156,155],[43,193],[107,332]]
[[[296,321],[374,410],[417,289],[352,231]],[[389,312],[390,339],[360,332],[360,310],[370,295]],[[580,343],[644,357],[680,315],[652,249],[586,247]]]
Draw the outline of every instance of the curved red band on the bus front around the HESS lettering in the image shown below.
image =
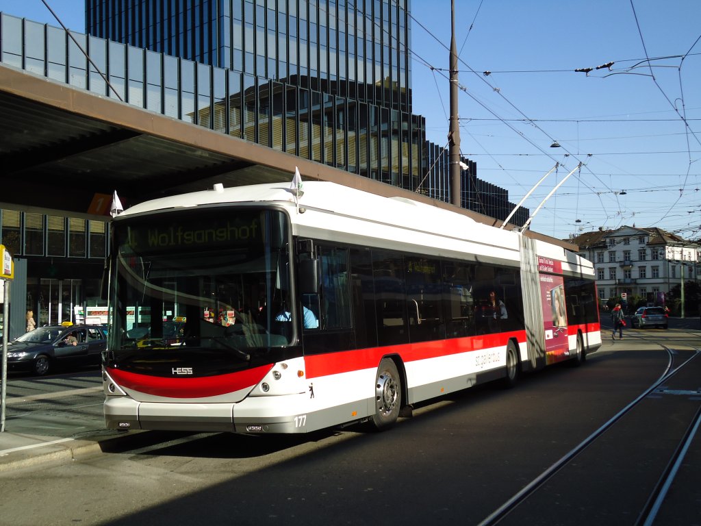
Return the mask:
[[158,377],[107,368],[114,381],[126,389],[167,398],[204,398],[251,389],[271,370],[271,365],[254,367],[227,375],[207,377]]

